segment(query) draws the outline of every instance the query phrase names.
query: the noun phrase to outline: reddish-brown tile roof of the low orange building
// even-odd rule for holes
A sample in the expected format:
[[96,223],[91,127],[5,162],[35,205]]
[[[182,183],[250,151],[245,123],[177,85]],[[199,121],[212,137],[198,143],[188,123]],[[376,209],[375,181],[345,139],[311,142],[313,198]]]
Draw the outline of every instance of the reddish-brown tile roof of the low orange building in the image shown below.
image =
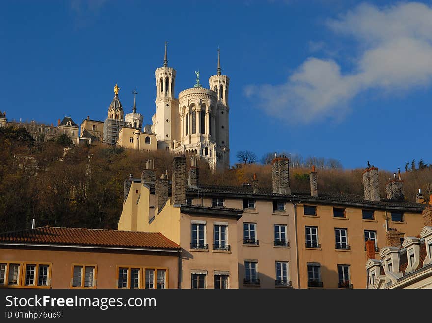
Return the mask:
[[1,243],[181,250],[178,244],[159,232],[132,232],[50,226],[0,233]]

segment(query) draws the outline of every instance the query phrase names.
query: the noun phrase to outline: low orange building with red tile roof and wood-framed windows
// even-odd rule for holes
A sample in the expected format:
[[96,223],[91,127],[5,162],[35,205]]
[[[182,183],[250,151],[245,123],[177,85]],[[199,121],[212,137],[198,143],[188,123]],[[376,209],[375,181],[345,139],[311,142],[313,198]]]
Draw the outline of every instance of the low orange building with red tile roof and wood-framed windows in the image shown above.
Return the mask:
[[60,227],[0,233],[0,288],[178,288],[180,250],[160,233]]

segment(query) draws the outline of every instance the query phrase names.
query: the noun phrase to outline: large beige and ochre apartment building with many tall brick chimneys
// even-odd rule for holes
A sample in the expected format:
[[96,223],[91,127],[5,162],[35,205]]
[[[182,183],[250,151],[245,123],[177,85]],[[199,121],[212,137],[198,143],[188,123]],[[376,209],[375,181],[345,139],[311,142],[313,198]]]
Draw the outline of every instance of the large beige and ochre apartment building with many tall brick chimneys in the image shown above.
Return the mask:
[[[174,164],[179,158],[184,157],[175,157]],[[187,181],[174,179],[186,174],[184,168],[180,173],[173,169],[171,183],[166,176],[156,181],[152,168],[149,162],[141,179],[126,181],[118,228],[162,232],[180,244],[185,252],[182,288],[195,287],[193,275],[198,273],[205,275],[201,286],[213,288],[216,278],[211,272],[226,270],[215,268],[219,254],[210,252],[215,241],[220,244],[217,225],[221,223],[226,224],[223,241],[231,251],[226,259],[238,267],[237,272],[229,269],[229,288],[366,288],[365,241],[373,240],[378,254],[386,245],[387,232],[398,230],[403,239],[423,227],[424,199],[418,197],[419,203],[403,200],[400,174],[386,184],[386,198],[381,199],[375,167],[364,172],[364,196],[319,193],[314,170],[311,193],[292,193],[289,161],[284,156],[273,160],[272,189],[261,188],[257,178],[241,187],[198,186],[195,166],[189,169]],[[165,186],[166,195],[161,193]],[[170,188],[178,191],[178,187],[185,195],[172,202]],[[195,210],[193,215],[190,208]],[[221,211],[233,212],[231,221]],[[196,224],[203,226],[197,229]],[[200,244],[208,245],[199,256],[191,249],[197,237]]]

